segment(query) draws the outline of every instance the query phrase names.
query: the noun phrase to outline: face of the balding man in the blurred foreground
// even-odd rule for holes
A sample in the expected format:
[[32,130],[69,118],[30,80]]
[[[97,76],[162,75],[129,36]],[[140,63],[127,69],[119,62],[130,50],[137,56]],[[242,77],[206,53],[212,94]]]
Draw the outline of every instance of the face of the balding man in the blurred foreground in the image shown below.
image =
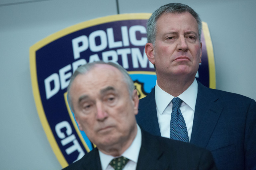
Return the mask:
[[138,97],[122,73],[107,64],[97,64],[86,74],[77,75],[70,88],[75,118],[80,130],[103,149],[127,142],[136,130]]

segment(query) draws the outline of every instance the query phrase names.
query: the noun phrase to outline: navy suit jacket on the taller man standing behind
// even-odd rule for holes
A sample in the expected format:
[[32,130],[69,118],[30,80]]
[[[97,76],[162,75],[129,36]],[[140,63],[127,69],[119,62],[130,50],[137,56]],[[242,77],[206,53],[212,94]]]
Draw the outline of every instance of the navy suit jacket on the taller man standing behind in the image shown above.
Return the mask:
[[[142,129],[161,136],[154,88],[140,99],[136,120]],[[190,143],[210,150],[218,169],[256,169],[255,101],[198,82]]]

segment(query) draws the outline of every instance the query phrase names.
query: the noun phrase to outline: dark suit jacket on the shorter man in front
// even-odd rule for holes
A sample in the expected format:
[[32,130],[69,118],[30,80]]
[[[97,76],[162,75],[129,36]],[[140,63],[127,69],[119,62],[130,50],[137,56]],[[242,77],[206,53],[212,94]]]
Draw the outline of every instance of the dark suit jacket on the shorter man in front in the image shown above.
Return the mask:
[[[141,148],[137,170],[215,170],[210,151],[194,145],[153,136],[141,129]],[[101,170],[97,148],[84,155],[80,160],[69,165],[65,170]]]

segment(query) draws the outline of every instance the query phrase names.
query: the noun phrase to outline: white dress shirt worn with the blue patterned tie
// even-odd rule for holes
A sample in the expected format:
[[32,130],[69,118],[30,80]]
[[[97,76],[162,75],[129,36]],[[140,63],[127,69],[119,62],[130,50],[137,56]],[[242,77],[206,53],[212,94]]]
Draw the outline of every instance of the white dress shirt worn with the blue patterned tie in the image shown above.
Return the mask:
[[[191,139],[192,126],[195,114],[196,100],[197,100],[197,80],[189,86],[178,97],[183,101],[181,103],[181,113],[184,117],[189,141]],[[171,113],[172,113],[172,99],[174,97],[165,91],[163,91],[157,84],[155,86],[155,101],[156,101],[156,112],[158,123],[160,127],[160,132],[162,137],[170,138],[170,123],[171,123]]]

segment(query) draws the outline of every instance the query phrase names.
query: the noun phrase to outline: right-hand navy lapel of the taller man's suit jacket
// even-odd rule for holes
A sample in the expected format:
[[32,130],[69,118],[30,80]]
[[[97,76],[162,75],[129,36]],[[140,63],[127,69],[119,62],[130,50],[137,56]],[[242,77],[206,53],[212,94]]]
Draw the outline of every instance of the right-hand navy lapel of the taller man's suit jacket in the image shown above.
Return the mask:
[[211,90],[198,82],[198,95],[190,143],[206,148],[223,105]]

